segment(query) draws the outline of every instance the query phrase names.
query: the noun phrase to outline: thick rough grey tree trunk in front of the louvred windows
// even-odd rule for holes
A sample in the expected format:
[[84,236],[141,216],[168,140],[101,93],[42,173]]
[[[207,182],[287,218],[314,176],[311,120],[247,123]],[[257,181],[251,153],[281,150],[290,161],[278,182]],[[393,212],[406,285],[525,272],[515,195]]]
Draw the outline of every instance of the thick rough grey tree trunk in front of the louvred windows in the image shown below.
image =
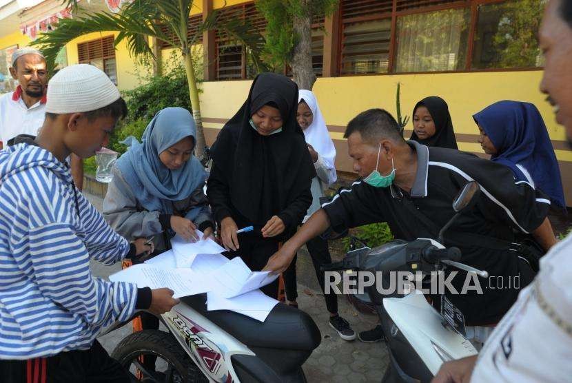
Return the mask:
[[302,9],[308,10],[302,17],[294,17],[294,33],[298,41],[294,46],[292,73],[298,88],[311,90],[316,74],[311,68],[311,0],[299,0]]

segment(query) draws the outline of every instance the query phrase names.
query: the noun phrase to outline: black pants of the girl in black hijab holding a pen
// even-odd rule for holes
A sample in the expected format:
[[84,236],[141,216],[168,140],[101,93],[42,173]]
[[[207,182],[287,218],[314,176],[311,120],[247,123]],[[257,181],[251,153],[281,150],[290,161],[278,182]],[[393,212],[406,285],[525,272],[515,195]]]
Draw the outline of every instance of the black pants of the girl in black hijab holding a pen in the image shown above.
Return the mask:
[[[251,232],[238,234],[238,251],[225,251],[229,259],[240,256],[252,271],[261,271],[270,258],[278,251],[278,241],[274,238],[263,238],[260,234]],[[278,298],[278,279],[261,288],[262,292],[274,299]]]

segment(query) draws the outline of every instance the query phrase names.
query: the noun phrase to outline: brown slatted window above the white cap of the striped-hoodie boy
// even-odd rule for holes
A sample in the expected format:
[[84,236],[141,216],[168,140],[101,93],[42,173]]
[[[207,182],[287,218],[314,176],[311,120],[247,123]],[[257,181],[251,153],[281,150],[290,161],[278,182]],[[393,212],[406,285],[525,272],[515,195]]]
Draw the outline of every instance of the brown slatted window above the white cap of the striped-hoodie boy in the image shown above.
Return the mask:
[[115,61],[114,37],[87,41],[77,45],[78,62],[91,64],[105,72],[115,85],[117,85],[117,65]]

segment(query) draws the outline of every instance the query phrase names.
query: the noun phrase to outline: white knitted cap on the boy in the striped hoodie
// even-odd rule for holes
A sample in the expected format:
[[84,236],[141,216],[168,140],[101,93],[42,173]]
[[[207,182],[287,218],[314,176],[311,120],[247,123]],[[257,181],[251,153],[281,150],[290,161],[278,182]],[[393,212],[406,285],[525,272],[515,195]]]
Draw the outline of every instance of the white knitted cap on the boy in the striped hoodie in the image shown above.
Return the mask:
[[108,75],[89,64],[65,67],[48,86],[45,111],[55,114],[91,112],[121,97]]

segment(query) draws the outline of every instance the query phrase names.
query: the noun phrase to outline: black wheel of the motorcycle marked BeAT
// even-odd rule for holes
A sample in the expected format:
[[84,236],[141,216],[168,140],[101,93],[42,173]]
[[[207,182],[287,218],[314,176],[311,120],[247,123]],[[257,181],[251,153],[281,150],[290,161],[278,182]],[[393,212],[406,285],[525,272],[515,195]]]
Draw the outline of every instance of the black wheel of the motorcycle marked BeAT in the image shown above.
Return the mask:
[[[156,370],[148,371],[139,361],[142,355],[157,357]],[[115,347],[112,358],[132,374],[132,381],[149,383],[203,383],[209,380],[181,349],[173,335],[159,330],[143,330],[125,337]]]

